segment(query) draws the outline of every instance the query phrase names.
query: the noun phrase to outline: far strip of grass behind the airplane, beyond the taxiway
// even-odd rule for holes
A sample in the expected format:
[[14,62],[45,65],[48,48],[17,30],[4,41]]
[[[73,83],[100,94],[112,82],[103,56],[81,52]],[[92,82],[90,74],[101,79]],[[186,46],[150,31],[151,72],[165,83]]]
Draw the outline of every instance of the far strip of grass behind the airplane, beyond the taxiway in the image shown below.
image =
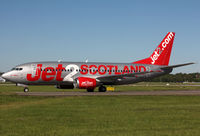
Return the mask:
[[[115,91],[160,91],[160,90],[200,90],[199,83],[151,83],[141,82],[133,85],[114,86]],[[29,86],[32,92],[55,92],[55,91],[86,91],[85,89],[57,89],[55,86]],[[0,84],[0,94],[12,94],[22,92],[23,87],[16,87],[14,84]],[[96,88],[95,91],[98,91]]]

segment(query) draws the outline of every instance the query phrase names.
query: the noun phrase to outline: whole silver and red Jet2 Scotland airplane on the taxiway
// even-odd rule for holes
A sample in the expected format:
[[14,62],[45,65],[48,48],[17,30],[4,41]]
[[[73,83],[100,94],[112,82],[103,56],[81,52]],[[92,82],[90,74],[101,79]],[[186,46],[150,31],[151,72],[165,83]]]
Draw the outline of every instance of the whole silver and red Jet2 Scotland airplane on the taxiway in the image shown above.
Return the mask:
[[131,63],[97,62],[32,62],[18,65],[2,75],[3,79],[24,86],[56,85],[59,89],[80,88],[105,92],[105,85],[132,84],[172,72],[176,67],[193,63],[168,66],[175,33],[169,32],[155,51],[146,59]]

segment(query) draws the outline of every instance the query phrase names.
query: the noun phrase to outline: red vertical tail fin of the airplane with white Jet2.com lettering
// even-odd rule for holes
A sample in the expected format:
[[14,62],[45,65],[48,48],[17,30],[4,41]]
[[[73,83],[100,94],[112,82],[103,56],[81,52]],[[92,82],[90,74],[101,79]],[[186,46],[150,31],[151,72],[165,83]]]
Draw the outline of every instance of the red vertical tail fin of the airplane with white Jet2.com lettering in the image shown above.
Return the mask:
[[133,63],[152,64],[152,65],[168,65],[171,55],[172,45],[174,42],[175,33],[169,32],[162,42],[155,49],[149,58],[139,60]]

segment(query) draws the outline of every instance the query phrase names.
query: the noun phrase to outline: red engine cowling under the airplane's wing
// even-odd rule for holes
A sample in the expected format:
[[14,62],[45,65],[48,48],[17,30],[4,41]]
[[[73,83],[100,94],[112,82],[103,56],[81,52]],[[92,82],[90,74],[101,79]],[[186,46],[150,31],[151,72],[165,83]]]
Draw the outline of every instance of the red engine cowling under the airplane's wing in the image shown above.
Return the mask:
[[94,89],[97,86],[96,79],[88,77],[79,77],[76,83],[80,89]]

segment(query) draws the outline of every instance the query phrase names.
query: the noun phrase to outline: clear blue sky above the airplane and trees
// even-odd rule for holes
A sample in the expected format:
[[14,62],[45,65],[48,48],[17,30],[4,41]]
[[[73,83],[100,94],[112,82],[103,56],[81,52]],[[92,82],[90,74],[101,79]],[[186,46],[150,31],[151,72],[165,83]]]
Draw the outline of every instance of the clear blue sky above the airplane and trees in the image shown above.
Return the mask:
[[200,72],[199,0],[0,0],[0,71],[35,61],[133,62],[175,32],[173,73]]

